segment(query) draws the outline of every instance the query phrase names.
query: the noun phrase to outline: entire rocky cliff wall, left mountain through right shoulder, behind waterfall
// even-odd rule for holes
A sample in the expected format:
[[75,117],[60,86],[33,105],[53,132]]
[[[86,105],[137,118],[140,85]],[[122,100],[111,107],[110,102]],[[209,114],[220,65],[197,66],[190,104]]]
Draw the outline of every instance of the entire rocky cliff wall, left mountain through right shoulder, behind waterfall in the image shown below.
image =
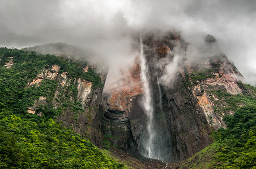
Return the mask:
[[[152,93],[155,158],[180,161],[211,144],[211,130],[226,127],[223,117],[233,114],[233,110],[220,108],[227,103],[218,94],[244,94],[245,88],[240,86],[243,78],[220,52],[189,58],[188,44],[178,34],[142,37]],[[205,47],[214,51],[216,39],[207,35]],[[54,81],[56,87],[51,95],[35,100],[27,112],[42,115],[46,108],[57,110],[57,121],[97,146],[101,147],[105,138],[113,145],[148,153],[148,117],[142,103],[145,88],[139,56],[103,97],[101,88],[92,82],[60,69],[61,66],[52,65],[29,81],[27,87],[40,86],[47,80]],[[88,69],[86,66],[83,70]],[[105,81],[104,73],[101,81]]]

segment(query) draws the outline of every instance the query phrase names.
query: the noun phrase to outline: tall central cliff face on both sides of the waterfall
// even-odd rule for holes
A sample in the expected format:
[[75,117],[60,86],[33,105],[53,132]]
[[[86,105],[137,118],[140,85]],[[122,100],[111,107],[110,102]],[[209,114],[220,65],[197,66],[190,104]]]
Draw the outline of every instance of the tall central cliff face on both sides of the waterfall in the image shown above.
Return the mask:
[[[207,47],[215,43],[213,37],[206,37]],[[160,37],[146,35],[143,44],[153,95],[159,159],[185,159],[212,143],[211,130],[225,127],[224,114],[233,112],[216,110],[215,101],[219,99],[214,91],[241,94],[243,89],[238,82],[242,75],[223,54],[196,61],[182,57],[177,63],[177,72],[166,83],[162,77],[167,73],[168,63],[174,62],[174,48],[186,52],[187,44],[171,33]],[[125,84],[120,85],[121,81]],[[111,136],[112,144],[141,152],[142,145],[146,144],[147,118],[141,104],[144,89],[140,65],[135,64],[116,83],[117,87],[106,96],[105,134]]]

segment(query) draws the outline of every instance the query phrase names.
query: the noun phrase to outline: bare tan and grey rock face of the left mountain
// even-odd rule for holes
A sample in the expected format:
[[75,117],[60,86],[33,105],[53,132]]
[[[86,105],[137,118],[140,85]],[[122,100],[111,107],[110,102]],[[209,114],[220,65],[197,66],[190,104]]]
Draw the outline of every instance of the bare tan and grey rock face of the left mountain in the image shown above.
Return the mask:
[[44,69],[27,84],[27,87],[40,86],[46,80],[57,84],[50,96],[40,96],[27,112],[41,116],[46,108],[58,110],[57,121],[101,147],[102,89],[94,88],[92,82],[71,77],[68,72],[59,72],[60,68],[61,66],[53,65]]

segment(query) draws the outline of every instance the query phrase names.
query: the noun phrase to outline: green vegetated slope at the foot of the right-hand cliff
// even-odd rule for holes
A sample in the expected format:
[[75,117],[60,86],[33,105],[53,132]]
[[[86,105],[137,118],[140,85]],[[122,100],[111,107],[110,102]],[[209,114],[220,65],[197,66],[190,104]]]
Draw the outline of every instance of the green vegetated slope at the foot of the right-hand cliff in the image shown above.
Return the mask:
[[225,115],[227,128],[214,132],[215,142],[183,163],[174,164],[178,168],[255,168],[256,166],[256,88],[242,84],[244,95],[226,92],[212,92],[221,112],[234,110],[233,115]]

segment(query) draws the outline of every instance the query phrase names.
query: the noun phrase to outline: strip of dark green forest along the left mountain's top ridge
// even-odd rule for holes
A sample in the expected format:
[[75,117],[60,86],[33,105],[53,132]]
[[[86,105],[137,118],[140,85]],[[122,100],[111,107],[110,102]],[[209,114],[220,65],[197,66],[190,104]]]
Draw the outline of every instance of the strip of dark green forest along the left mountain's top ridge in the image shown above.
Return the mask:
[[[0,48],[0,66],[5,65],[12,60],[14,64],[11,67],[11,73],[16,74],[27,81],[34,79],[37,74],[42,72],[45,68],[50,68],[52,65],[58,65],[61,68],[59,73],[69,72],[71,77],[86,79],[86,81],[93,82],[95,87],[103,87],[100,75],[92,68],[88,67],[88,72],[84,72],[84,68],[88,65],[85,61],[74,61],[56,57],[54,55],[36,54],[34,51],[23,51],[16,48]],[[24,81],[20,82],[24,84]]]

